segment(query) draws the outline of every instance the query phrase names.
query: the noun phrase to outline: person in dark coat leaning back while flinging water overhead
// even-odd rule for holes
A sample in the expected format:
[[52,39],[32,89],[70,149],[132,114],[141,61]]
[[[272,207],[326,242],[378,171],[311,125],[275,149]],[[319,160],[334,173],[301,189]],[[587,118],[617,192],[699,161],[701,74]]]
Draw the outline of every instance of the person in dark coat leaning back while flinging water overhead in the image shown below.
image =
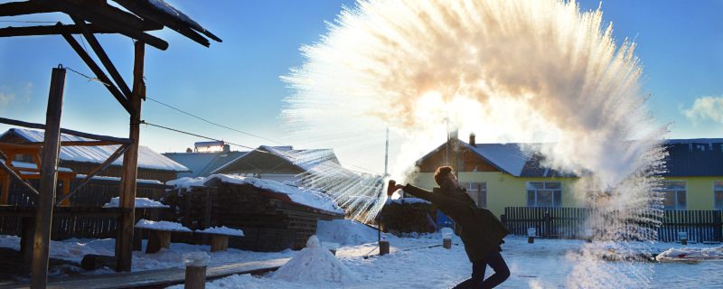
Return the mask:
[[[402,190],[419,199],[428,200],[455,220],[467,257],[472,262],[472,277],[455,288],[493,288],[502,284],[510,276],[510,269],[500,254],[500,245],[509,231],[490,210],[474,205],[474,200],[465,189],[459,187],[452,167],[437,168],[435,182],[439,187],[433,191],[425,191],[411,184],[395,184],[394,190],[390,192]],[[494,274],[484,280],[484,271],[488,265],[493,268]]]

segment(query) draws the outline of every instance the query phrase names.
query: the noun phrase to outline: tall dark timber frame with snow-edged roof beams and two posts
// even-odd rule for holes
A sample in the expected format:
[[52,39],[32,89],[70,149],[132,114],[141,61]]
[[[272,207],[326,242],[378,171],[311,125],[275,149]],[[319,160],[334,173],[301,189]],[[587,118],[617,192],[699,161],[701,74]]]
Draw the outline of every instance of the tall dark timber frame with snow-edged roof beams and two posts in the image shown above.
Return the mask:
[[[116,98],[117,102],[129,114],[130,128],[127,150],[124,154],[124,170],[121,176],[120,191],[120,217],[118,236],[116,239],[117,270],[128,271],[131,266],[131,250],[134,225],[134,204],[136,191],[137,155],[139,141],[139,125],[141,102],[146,98],[146,85],[144,83],[144,56],[146,44],[160,50],[165,50],[168,43],[146,31],[160,30],[164,27],[181,33],[194,42],[209,46],[206,37],[217,42],[221,39],[205,30],[199,23],[178,11],[161,0],[114,0],[125,10],[114,5],[108,5],[106,0],[32,0],[0,4],[0,16],[15,16],[23,14],[63,13],[68,14],[73,24],[31,26],[31,27],[5,27],[0,29],[0,37],[29,36],[60,34],[70,47],[78,53],[80,58],[93,71],[96,78],[103,82]],[[83,50],[80,43],[72,36],[80,33],[88,41],[90,48],[95,52],[103,68],[93,61],[88,52]],[[135,61],[133,66],[133,82],[129,87],[121,77],[108,54],[103,50],[95,33],[119,33],[136,40]],[[204,37],[205,36],[205,37]],[[110,77],[108,77],[110,75]],[[38,226],[35,232],[35,247],[37,254],[33,257],[33,287],[43,288],[47,277],[47,247],[50,236],[52,208],[56,188],[58,147],[60,145],[61,100],[65,70],[53,70],[51,93],[48,102],[46,124],[43,126],[46,135],[44,138],[41,168],[41,193],[37,205]],[[112,79],[112,81],[111,81]],[[118,154],[119,155],[119,154]],[[6,159],[6,158],[5,158]],[[0,165],[5,172],[12,172],[5,163]],[[17,175],[10,173],[11,177]],[[20,180],[20,178],[15,178]]]

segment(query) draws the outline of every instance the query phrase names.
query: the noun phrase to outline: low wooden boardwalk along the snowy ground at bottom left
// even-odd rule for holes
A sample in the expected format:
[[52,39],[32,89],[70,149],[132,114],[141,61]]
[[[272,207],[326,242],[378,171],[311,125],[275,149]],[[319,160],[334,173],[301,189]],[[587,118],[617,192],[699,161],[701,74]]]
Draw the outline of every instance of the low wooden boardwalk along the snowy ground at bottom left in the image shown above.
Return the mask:
[[[206,279],[213,280],[230,275],[263,274],[284,266],[289,258],[266,261],[233,263],[219,266],[208,266]],[[48,286],[68,289],[117,289],[117,288],[164,288],[174,284],[183,284],[185,269],[168,268],[141,272],[123,272],[107,275],[89,275],[80,277],[64,277],[51,279]],[[0,289],[29,288],[29,284],[0,284]]]

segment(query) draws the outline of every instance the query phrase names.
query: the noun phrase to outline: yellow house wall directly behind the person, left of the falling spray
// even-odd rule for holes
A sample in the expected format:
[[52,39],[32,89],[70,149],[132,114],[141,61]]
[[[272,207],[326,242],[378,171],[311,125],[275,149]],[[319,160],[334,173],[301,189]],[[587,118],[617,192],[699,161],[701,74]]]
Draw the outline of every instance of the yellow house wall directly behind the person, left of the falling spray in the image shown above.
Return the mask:
[[[518,178],[504,172],[459,172],[459,181],[486,182],[487,209],[492,210],[498,217],[502,215],[505,207],[527,206],[526,182],[562,182],[562,206],[582,206],[573,193],[573,186],[577,181],[575,178]],[[412,183],[426,190],[437,186],[432,172],[419,172]]]

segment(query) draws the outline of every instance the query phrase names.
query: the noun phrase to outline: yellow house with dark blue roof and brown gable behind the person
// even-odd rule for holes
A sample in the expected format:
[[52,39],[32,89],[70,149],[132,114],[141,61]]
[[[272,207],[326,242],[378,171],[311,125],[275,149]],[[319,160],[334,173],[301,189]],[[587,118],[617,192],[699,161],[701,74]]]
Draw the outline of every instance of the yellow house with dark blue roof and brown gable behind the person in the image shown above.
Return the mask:
[[[723,210],[723,139],[671,139],[665,145],[665,210]],[[455,147],[456,154],[447,154]],[[477,205],[497,216],[505,207],[583,206],[572,193],[577,176],[541,166],[540,156],[523,152],[520,144],[476,144],[474,135],[468,143],[453,138],[418,160],[414,182],[426,189],[437,186],[434,172],[446,163],[458,171]]]

